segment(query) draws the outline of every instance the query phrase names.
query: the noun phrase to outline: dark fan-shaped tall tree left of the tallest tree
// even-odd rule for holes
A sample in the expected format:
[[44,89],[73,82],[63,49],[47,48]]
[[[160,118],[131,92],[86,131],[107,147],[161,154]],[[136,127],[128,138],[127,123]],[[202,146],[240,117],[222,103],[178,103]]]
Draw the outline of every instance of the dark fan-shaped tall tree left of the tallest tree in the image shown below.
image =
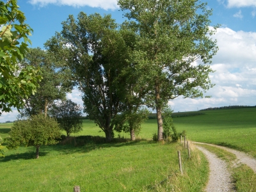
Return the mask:
[[45,44],[65,61],[83,93],[84,113],[105,132],[106,141],[113,138],[118,113],[122,112],[129,46],[111,15],[79,13],[70,15],[63,30]]

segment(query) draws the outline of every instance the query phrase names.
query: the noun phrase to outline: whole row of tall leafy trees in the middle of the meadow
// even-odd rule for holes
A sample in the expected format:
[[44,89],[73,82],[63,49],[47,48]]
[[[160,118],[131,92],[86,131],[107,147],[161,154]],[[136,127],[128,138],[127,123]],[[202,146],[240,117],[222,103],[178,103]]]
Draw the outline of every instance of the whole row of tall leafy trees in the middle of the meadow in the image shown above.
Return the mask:
[[[36,93],[22,99],[22,115],[56,115],[58,111],[49,109],[76,86],[83,94],[84,113],[105,132],[106,141],[111,141],[114,130],[130,132],[134,140],[147,118],[145,106],[156,109],[160,141],[168,100],[180,95],[203,97],[213,86],[207,63],[218,50],[211,39],[218,26],[210,27],[212,10],[206,3],[119,0],[118,4],[128,19],[124,23],[98,13],[81,12],[77,19],[69,15],[62,31],[45,43],[46,51],[31,49],[24,60],[20,58],[21,68],[42,71],[42,80],[39,76],[33,80],[40,85]],[[4,36],[8,29],[2,31]]]

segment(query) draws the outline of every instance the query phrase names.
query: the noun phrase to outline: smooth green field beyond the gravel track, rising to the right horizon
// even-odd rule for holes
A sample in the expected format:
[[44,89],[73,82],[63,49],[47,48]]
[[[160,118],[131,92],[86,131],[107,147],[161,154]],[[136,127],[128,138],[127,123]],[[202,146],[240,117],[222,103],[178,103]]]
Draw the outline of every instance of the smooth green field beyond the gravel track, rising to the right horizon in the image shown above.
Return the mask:
[[205,115],[173,118],[189,140],[224,145],[256,157],[256,108],[204,111]]

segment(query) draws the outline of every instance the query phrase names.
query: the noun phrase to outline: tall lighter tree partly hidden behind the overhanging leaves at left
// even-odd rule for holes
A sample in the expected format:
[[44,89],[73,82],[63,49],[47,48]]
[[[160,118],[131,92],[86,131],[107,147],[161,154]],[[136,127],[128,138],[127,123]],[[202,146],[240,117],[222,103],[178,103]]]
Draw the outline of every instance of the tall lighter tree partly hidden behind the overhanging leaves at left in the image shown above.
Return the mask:
[[29,95],[28,99],[24,99],[22,115],[32,116],[44,113],[47,116],[47,111],[54,100],[64,99],[66,92],[71,90],[72,82],[69,81],[68,74],[59,68],[50,52],[40,48],[30,49],[21,65],[40,67],[43,77],[42,81],[38,82],[40,86],[37,92]]

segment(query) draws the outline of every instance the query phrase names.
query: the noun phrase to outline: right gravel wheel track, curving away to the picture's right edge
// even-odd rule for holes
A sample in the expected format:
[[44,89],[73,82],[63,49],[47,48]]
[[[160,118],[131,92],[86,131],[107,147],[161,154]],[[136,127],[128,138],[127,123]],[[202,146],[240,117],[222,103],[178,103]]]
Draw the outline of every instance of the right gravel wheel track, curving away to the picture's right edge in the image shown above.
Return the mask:
[[256,159],[254,159],[253,157],[248,156],[244,152],[240,152],[240,151],[237,151],[237,150],[234,150],[234,149],[231,149],[231,148],[227,148],[227,147],[223,147],[223,146],[219,146],[219,145],[212,145],[212,144],[208,144],[208,143],[199,143],[199,142],[193,142],[193,143],[211,145],[213,147],[218,147],[218,148],[222,148],[224,150],[227,150],[228,152],[231,152],[231,153],[236,155],[236,158],[237,158],[236,163],[246,164],[247,166],[252,168],[253,172],[256,173]]

